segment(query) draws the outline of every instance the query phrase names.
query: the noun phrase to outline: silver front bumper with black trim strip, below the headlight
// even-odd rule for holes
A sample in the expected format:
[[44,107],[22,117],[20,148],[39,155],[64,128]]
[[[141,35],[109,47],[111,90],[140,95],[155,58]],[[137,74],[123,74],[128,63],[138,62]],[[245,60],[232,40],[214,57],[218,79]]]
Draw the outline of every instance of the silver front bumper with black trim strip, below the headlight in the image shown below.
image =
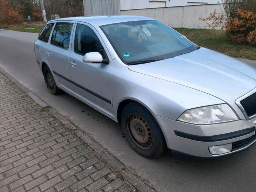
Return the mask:
[[[211,125],[194,125],[154,116],[162,128],[168,148],[200,157],[216,157],[236,153],[256,142],[254,122],[237,120]],[[232,151],[213,155],[210,146],[232,144]]]

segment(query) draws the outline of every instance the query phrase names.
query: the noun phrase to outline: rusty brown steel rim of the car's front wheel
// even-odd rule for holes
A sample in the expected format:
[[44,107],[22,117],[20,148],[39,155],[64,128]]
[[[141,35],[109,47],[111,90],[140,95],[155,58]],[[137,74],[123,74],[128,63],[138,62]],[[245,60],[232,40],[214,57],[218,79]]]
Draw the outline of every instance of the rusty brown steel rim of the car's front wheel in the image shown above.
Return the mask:
[[144,149],[151,148],[153,143],[152,130],[146,120],[139,114],[130,114],[126,120],[126,128],[134,143]]

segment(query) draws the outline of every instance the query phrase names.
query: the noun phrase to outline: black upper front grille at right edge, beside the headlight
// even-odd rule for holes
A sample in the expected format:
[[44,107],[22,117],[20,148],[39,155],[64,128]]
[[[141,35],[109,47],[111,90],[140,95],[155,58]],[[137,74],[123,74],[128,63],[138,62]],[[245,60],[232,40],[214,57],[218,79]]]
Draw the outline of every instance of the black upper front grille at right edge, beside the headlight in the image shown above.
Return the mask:
[[240,101],[248,117],[256,114],[256,92]]

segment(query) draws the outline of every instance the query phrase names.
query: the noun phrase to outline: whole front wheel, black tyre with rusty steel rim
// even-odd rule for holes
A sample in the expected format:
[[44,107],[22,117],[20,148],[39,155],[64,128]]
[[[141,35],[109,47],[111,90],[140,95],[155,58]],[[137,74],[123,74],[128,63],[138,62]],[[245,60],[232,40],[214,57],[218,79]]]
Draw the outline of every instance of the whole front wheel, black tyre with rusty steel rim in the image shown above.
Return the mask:
[[122,110],[121,124],[126,139],[138,154],[155,158],[166,151],[164,134],[144,106],[135,102],[127,104]]

